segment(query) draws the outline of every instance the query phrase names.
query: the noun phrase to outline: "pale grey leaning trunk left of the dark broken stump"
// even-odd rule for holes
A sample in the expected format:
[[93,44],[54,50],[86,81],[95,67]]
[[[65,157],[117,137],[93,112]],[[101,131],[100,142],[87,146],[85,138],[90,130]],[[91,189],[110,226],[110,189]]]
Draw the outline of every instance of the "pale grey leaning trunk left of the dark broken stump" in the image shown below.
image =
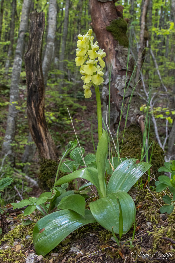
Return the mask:
[[7,127],[5,132],[5,138],[2,146],[3,154],[9,152],[9,159],[11,163],[14,163],[13,146],[11,143],[14,141],[16,132],[16,117],[18,111],[16,110],[16,103],[19,98],[19,80],[22,66],[22,57],[24,50],[24,38],[28,27],[28,17],[30,10],[31,0],[24,0],[22,5],[20,29],[18,33],[18,41],[16,45],[16,52],[14,58],[14,64],[11,74],[11,86],[10,86],[10,105],[7,117]]

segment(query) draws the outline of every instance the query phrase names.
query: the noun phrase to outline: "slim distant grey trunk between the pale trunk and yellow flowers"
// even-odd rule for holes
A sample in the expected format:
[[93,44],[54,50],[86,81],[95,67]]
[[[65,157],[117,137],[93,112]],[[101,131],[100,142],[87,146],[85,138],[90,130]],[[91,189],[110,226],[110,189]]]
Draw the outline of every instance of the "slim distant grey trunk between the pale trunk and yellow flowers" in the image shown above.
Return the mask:
[[64,53],[66,47],[66,38],[68,34],[68,22],[69,22],[69,2],[70,0],[66,0],[65,4],[65,15],[64,15],[64,26],[63,26],[63,37],[61,43],[61,50],[59,55],[59,70],[62,72],[60,75],[60,79],[64,79]]

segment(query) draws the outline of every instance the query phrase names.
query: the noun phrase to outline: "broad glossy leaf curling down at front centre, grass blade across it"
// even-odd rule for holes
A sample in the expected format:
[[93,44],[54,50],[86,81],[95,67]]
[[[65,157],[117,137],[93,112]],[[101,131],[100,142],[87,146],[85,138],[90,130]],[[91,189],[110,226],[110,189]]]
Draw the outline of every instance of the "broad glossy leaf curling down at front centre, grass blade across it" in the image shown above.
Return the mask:
[[123,233],[125,234],[131,228],[135,218],[135,204],[132,197],[124,191],[118,191],[91,202],[90,209],[97,222],[109,231],[119,234],[119,205],[120,201],[123,217]]

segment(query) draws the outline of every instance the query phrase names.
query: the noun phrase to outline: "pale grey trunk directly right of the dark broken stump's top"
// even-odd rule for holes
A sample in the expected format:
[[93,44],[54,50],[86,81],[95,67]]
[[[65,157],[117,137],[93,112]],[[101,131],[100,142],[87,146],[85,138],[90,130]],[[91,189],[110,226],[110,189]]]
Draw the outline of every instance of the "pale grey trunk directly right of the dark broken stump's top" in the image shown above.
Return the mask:
[[46,87],[47,75],[53,60],[54,48],[55,48],[55,35],[56,35],[56,24],[57,24],[57,1],[49,1],[49,18],[48,18],[48,33],[46,41],[46,50],[43,59],[43,76]]

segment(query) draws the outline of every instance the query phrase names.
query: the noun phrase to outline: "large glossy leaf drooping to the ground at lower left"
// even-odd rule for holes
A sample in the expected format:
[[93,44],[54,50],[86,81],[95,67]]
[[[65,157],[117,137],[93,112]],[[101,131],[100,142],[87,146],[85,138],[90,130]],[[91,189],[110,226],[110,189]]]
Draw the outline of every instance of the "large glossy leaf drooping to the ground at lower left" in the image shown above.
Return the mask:
[[36,254],[45,256],[71,232],[80,226],[95,222],[91,211],[87,209],[85,210],[85,218],[68,209],[41,218],[33,230],[33,244]]

